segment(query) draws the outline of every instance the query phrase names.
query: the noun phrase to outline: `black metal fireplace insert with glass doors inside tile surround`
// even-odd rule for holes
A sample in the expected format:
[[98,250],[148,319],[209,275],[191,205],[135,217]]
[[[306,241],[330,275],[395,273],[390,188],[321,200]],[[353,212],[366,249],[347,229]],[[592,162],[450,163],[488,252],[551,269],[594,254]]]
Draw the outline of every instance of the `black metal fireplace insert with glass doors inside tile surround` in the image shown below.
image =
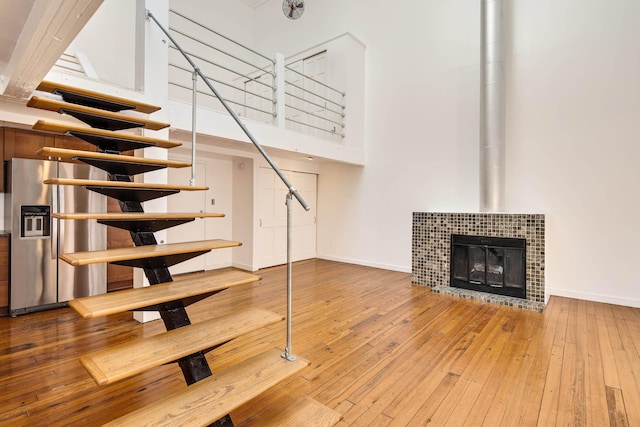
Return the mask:
[[451,235],[451,282],[456,288],[526,298],[526,240]]

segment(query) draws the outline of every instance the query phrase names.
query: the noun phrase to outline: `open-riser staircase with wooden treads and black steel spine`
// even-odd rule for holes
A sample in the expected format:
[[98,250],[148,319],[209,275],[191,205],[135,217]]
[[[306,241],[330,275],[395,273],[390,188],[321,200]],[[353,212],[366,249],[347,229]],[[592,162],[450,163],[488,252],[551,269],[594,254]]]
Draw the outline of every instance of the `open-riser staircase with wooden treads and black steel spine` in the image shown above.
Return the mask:
[[[167,332],[83,355],[81,363],[98,385],[111,384],[140,374],[159,365],[177,362],[187,386],[174,395],[163,396],[109,425],[233,425],[229,413],[267,389],[296,374],[309,362],[294,361],[274,349],[236,366],[216,369],[212,375],[205,353],[239,335],[283,320],[268,311],[251,308],[230,315],[191,324],[186,307],[224,289],[255,283],[260,277],[232,270],[203,279],[173,280],[169,267],[214,249],[239,246],[240,242],[222,239],[159,245],[154,233],[195,218],[222,217],[222,214],[145,213],[142,202],[165,197],[179,191],[206,190],[207,187],[175,186],[133,182],[137,174],[167,168],[189,167],[189,163],[123,156],[123,151],[145,147],[171,148],[180,145],[162,139],[131,135],[120,130],[142,127],[162,129],[168,124],[154,122],[141,114],[158,107],[132,102],[53,82],[43,82],[38,90],[50,95],[34,96],[27,105],[68,114],[89,126],[40,120],[34,129],[69,134],[95,145],[98,152],[46,147],[39,154],[60,161],[81,161],[107,172],[108,181],[51,179],[51,185],[83,186],[114,197],[122,213],[77,212],[54,214],[59,220],[96,220],[110,227],[130,232],[133,247],[61,254],[74,266],[91,263],[114,263],[142,268],[151,286],[80,298],[69,302],[82,317],[93,318],[131,310],[156,310]],[[330,426],[340,415],[311,399],[295,404],[291,411],[297,425]],[[306,409],[308,408],[308,409]],[[286,411],[285,411],[286,412]],[[287,417],[283,412],[280,417]],[[288,413],[288,412],[287,412]],[[300,421],[302,420],[302,423]],[[280,421],[277,421],[280,423]],[[262,420],[262,424],[266,421]],[[284,423],[284,421],[283,421]],[[268,423],[266,423],[268,424]],[[281,424],[279,424],[281,425]]]

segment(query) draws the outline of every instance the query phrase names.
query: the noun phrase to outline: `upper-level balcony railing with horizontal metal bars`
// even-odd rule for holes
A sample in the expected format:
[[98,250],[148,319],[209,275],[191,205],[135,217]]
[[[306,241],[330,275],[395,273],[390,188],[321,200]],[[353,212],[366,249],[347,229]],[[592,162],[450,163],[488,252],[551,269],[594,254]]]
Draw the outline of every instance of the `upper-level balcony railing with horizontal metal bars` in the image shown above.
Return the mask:
[[[239,116],[322,139],[344,139],[345,94],[323,81],[325,74],[316,70],[319,63],[300,60],[286,64],[282,55],[276,54],[269,58],[175,10],[169,14],[169,31]],[[315,67],[316,72],[305,72],[309,67]],[[184,57],[171,46],[170,98],[191,100],[192,73]],[[278,87],[284,90],[278,91]],[[197,94],[199,106],[221,108],[206,88],[198,88]],[[278,99],[278,94],[284,99]]]

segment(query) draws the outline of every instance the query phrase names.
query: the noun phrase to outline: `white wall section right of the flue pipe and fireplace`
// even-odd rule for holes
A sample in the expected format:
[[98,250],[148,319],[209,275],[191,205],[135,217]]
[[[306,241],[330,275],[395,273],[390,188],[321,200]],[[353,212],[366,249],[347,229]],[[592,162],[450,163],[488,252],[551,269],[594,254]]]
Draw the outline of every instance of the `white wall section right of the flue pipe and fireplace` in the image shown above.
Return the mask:
[[640,306],[640,2],[509,4],[508,208],[548,214],[548,292]]

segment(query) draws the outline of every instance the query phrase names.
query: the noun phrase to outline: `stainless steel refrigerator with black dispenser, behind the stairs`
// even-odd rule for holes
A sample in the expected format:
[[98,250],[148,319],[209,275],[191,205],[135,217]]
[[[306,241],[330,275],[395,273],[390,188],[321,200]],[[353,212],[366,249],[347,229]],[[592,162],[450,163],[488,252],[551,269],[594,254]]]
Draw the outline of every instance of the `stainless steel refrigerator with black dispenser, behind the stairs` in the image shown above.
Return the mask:
[[59,220],[52,214],[106,212],[106,197],[84,187],[43,184],[56,177],[104,180],[105,172],[84,164],[31,159],[12,159],[7,171],[11,315],[105,293],[105,264],[72,267],[58,260],[58,253],[106,249],[106,227],[95,220]]

